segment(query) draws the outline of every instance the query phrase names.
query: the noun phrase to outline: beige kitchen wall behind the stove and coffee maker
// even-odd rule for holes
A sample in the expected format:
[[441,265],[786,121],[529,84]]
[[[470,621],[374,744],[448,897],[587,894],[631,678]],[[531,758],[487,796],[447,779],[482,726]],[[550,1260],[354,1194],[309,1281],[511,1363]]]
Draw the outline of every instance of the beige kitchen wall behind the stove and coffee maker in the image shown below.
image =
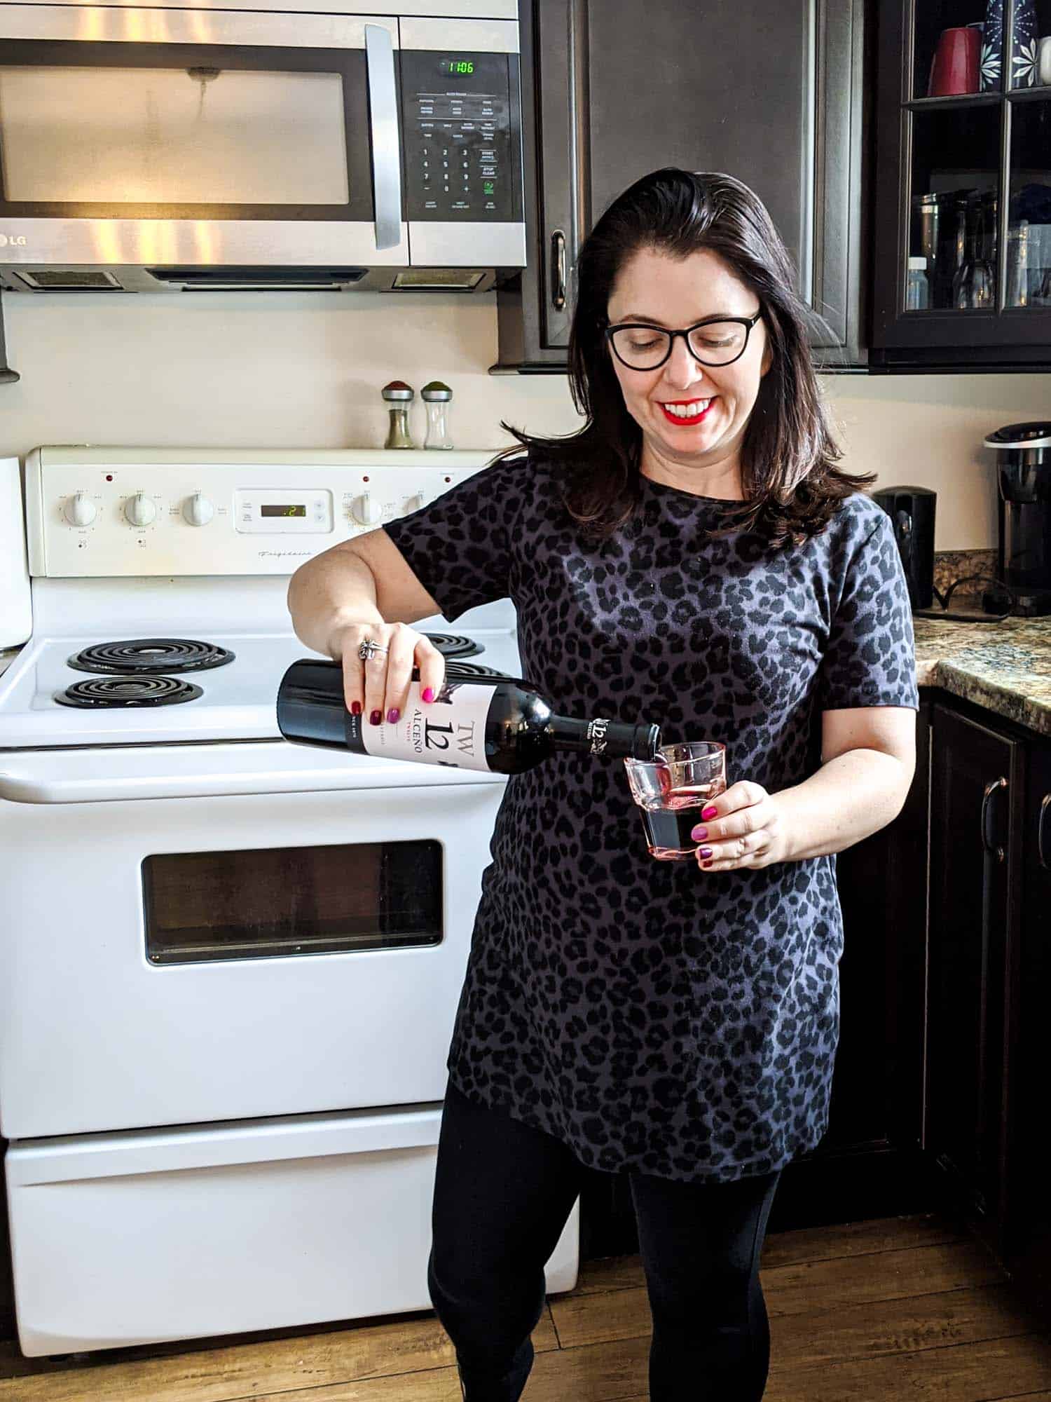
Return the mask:
[[[380,388],[453,387],[458,447],[500,447],[502,418],[569,433],[562,376],[489,376],[493,294],[185,293],[7,296],[0,453],[39,443],[371,447]],[[995,543],[989,429],[1051,416],[1051,381],[1017,376],[831,376],[849,465],[937,492],[937,548]],[[413,408],[423,437],[423,408]]]

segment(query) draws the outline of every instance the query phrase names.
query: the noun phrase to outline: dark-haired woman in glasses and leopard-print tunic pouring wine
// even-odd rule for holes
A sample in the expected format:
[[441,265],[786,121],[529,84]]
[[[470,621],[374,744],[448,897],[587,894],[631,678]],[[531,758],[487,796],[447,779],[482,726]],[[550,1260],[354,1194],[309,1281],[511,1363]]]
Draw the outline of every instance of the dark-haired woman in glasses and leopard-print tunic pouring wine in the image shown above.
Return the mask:
[[[586,426],[293,579],[296,631],[373,723],[408,627],[510,594],[524,674],[569,715],[720,739],[696,862],[654,862],[619,764],[510,780],[448,1056],[430,1293],[467,1402],[513,1402],[580,1165],[629,1176],[653,1402],[755,1402],[778,1176],[820,1140],[838,1037],[831,854],[901,809],[912,629],[888,519],[837,468],[788,254],[724,175],[661,170],[579,262]],[[362,662],[373,639],[387,649]],[[369,651],[369,649],[366,649]]]

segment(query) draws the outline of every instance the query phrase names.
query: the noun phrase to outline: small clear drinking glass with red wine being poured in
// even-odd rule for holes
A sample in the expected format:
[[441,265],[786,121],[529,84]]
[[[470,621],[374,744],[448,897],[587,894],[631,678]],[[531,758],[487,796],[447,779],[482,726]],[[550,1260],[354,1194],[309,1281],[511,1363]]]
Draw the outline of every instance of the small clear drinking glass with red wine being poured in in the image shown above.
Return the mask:
[[726,789],[726,746],[715,740],[663,744],[653,763],[625,760],[624,767],[650,857],[659,862],[694,857],[701,844],[689,830],[699,810]]

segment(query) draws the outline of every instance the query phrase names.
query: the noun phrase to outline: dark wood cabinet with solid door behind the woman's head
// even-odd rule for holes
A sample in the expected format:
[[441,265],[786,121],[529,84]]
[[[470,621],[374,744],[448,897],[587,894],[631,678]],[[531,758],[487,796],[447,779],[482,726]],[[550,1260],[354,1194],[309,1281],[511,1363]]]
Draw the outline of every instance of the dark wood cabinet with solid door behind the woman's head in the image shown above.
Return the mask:
[[751,185],[823,318],[813,345],[859,362],[862,0],[521,0],[520,18],[530,266],[497,292],[495,369],[565,369],[580,244],[661,165]]

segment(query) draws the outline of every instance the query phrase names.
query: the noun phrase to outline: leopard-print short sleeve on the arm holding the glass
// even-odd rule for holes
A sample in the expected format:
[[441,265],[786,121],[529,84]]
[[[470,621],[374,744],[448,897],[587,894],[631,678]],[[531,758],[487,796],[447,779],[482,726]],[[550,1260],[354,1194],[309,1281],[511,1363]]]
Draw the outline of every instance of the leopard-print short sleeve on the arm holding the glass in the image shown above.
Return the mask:
[[872,530],[848,558],[818,672],[823,711],[919,707],[905,573],[890,517],[879,508],[876,512]]

